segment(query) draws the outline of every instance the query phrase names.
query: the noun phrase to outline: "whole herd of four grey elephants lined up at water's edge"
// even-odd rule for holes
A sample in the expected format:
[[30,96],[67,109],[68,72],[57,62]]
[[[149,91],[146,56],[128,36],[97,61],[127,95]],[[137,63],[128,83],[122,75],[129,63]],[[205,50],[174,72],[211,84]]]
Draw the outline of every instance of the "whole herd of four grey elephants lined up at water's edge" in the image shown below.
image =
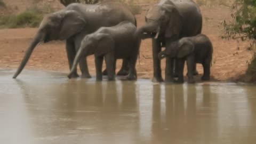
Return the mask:
[[[90,78],[86,56],[94,54],[97,81],[102,80],[102,75],[107,75],[109,81],[115,79],[117,59],[123,60],[117,75],[135,80],[141,40],[151,38],[154,82],[183,83],[185,61],[188,83],[195,82],[196,63],[203,65],[202,81],[210,80],[213,47],[210,39],[201,34],[202,14],[194,1],[161,0],[150,7],[145,21],[145,25],[137,28],[134,14],[119,2],[70,4],[44,17],[13,78],[21,73],[37,44],[65,40],[69,78],[78,77],[78,63],[81,77]],[[164,51],[162,47],[165,47]],[[164,58],[163,80],[161,60]],[[102,71],[103,59],[106,69]]]

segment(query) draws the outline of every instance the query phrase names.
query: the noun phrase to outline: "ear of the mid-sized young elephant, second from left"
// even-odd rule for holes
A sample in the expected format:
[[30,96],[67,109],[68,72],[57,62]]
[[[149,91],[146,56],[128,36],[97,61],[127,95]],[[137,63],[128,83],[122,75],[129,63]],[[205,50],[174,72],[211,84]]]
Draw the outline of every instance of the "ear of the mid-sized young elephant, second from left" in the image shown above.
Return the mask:
[[96,57],[105,55],[108,52],[115,50],[114,39],[108,34],[97,34],[95,35],[95,40],[97,47],[95,49],[94,55]]

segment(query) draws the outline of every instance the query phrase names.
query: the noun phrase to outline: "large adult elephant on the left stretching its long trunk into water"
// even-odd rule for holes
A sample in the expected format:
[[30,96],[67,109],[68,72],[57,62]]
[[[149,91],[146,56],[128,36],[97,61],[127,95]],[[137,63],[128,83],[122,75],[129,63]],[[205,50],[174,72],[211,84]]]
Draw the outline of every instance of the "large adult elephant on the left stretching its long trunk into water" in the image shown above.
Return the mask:
[[[47,15],[27,49],[27,52],[13,78],[16,78],[25,67],[36,45],[40,42],[66,39],[66,51],[69,68],[73,64],[76,51],[79,49],[85,35],[91,34],[100,27],[115,26],[122,21],[130,21],[136,25],[136,19],[130,9],[118,2],[100,2],[98,4],[70,4],[64,9]],[[82,77],[90,78],[86,59],[79,61]],[[123,67],[119,74],[125,74],[127,62],[123,61]],[[78,77],[77,71],[71,77]]]

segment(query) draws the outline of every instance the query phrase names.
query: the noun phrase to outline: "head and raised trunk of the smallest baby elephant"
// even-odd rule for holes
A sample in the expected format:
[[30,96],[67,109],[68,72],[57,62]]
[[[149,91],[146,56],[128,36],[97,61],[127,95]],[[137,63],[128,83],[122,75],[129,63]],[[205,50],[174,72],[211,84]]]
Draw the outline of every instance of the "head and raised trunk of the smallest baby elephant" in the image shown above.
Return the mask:
[[158,53],[159,59],[169,58],[183,58],[194,51],[194,44],[189,41],[175,41],[170,47],[166,47],[164,51]]

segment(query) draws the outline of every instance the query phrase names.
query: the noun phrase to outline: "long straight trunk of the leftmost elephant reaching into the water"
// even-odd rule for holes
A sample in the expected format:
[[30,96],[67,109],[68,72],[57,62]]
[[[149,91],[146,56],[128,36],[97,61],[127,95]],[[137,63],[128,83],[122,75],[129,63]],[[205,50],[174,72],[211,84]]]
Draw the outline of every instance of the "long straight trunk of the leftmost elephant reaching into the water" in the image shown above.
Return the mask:
[[31,53],[33,52],[33,50],[35,49],[36,45],[41,42],[41,36],[40,34],[36,34],[33,42],[31,42],[30,46],[28,47],[25,56],[23,57],[20,66],[18,68],[18,70],[16,71],[16,73],[14,74],[13,78],[17,78],[17,76],[21,73],[22,69],[26,66],[26,63],[28,62]]

